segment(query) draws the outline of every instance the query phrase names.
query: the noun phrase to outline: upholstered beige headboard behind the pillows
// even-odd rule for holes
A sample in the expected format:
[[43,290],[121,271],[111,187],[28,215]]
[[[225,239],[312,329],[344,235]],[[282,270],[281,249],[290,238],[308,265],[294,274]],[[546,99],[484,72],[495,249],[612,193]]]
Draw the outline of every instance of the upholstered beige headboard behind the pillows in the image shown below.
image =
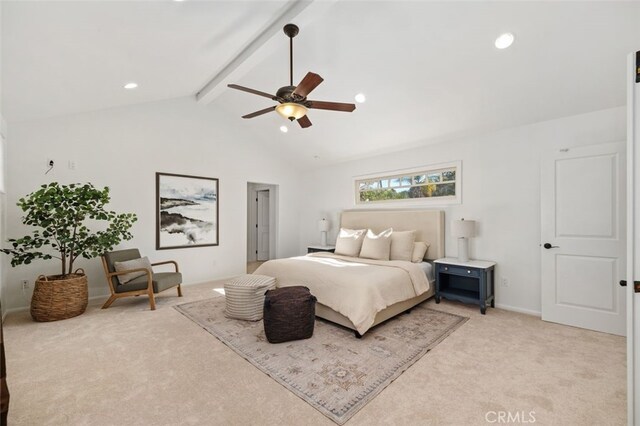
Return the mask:
[[442,210],[345,210],[340,226],[380,232],[416,230],[416,241],[429,243],[425,259],[444,257],[444,211]]

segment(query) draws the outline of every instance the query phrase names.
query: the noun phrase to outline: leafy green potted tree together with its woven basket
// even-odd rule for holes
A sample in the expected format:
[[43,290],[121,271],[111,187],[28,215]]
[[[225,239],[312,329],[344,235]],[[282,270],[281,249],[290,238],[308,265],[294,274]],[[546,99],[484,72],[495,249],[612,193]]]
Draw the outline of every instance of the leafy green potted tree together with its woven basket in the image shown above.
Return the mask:
[[[133,236],[129,229],[134,213],[117,214],[105,209],[109,188],[92,184],[60,185],[52,182],[21,198],[17,205],[26,214],[22,223],[37,227],[31,235],[10,238],[11,266],[30,264],[35,259],[59,259],[60,274],[40,275],[31,298],[31,316],[36,321],[56,321],[82,314],[87,308],[88,286],[84,270],[74,270],[82,256],[91,259],[112,250]],[[106,222],[101,230],[88,225]],[[42,251],[43,247],[50,250]]]

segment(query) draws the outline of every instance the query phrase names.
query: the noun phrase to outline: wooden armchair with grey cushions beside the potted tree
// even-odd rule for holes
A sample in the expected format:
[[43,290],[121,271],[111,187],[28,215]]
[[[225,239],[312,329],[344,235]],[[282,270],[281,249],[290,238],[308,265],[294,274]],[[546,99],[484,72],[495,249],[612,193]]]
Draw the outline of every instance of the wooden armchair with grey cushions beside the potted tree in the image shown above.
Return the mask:
[[[118,263],[118,265],[116,265]],[[153,272],[153,266],[173,264],[175,272]],[[151,310],[156,309],[154,293],[171,287],[178,287],[178,297],[182,297],[182,274],[173,260],[149,263],[141,258],[138,249],[108,252],[102,255],[102,266],[111,290],[111,297],[102,306],[106,309],[121,297],[149,295]],[[124,269],[123,269],[124,268]]]

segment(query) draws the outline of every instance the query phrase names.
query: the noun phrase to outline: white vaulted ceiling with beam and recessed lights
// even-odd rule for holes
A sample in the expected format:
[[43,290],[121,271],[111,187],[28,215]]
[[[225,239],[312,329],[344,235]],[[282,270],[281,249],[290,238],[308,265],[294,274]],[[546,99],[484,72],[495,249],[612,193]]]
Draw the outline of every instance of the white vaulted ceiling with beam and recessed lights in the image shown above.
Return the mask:
[[[5,118],[33,120],[196,94],[203,108],[309,165],[624,105],[640,2],[3,1]],[[325,81],[310,98],[367,102],[311,110],[300,129],[265,92]],[[503,32],[508,49],[494,47]],[[136,81],[127,91],[123,85]],[[207,85],[207,83],[211,84]],[[203,90],[204,89],[204,90]],[[279,127],[289,124],[283,134]],[[314,159],[319,157],[320,160]]]

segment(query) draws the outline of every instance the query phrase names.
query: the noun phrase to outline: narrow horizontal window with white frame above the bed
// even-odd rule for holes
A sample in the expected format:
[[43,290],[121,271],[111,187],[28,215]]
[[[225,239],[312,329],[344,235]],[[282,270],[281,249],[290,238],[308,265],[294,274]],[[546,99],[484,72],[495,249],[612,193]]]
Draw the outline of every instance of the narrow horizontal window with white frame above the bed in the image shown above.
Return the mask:
[[460,203],[461,162],[357,177],[356,204],[393,202]]

